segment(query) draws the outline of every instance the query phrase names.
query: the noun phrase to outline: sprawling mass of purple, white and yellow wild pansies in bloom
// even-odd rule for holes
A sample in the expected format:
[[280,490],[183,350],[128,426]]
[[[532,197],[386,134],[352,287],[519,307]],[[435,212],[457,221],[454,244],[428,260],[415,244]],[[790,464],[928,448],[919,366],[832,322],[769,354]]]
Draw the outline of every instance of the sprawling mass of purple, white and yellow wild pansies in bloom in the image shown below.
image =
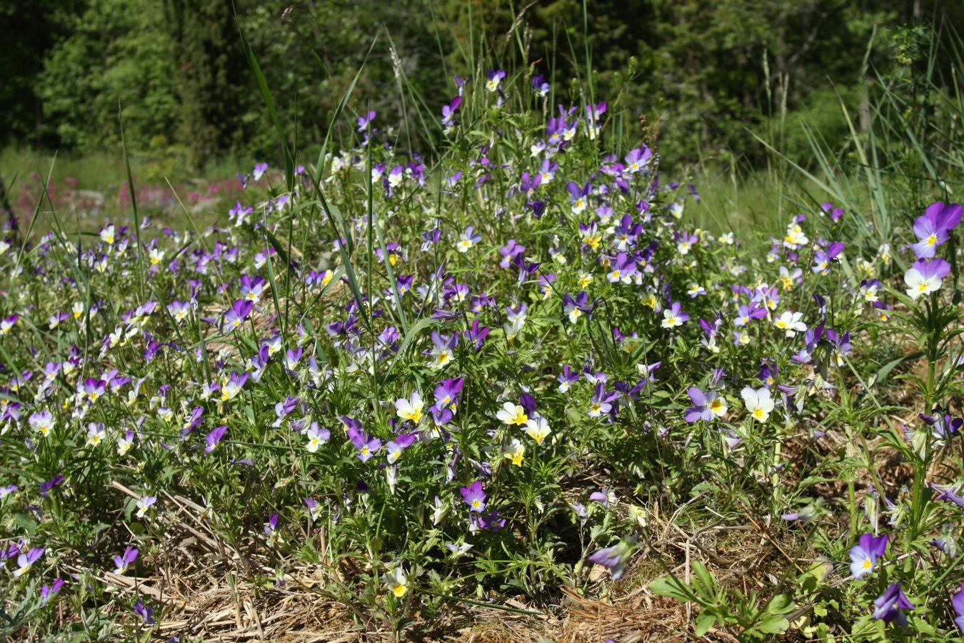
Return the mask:
[[[505,78],[487,74],[487,118],[507,110]],[[4,364],[0,434],[34,470],[0,488],[3,506],[42,502],[34,487],[40,498],[65,494],[77,477],[71,459],[93,458],[105,470],[137,472],[133,516],[152,520],[165,483],[141,466],[148,458],[171,457],[188,470],[254,468],[259,449],[287,448],[328,463],[317,475],[336,483],[309,480],[316,486],[303,506],[278,500],[286,509],[261,514],[270,516],[269,547],[285,542],[286,512],[338,522],[379,497],[413,529],[427,516],[423,526],[442,534],[447,555],[484,561],[486,544],[521,527],[519,500],[504,491],[517,473],[535,475],[534,463],[552,458],[591,458],[575,444],[618,425],[636,442],[688,441],[719,425],[727,448],[738,450],[755,425],[772,415],[794,422],[809,399],[833,393],[835,369],[853,350],[854,320],[890,317],[878,270],[890,265],[891,250],[865,260],[846,247],[841,208],[825,203],[793,217],[763,247],[765,260],[748,259],[732,233],[686,227],[686,202],[699,194],[663,184],[649,147],[583,153],[602,145],[606,103],[559,106],[526,132],[490,123],[476,140],[482,125],[469,130],[457,119],[468,83],[456,77],[456,85],[441,124],[470,152],[442,164],[439,176],[426,175],[415,154],[400,161],[387,142],[373,145],[377,114],[368,112],[358,120],[359,147],[330,154],[322,168],[299,166],[292,191],[271,184],[266,164],[239,175],[245,189],[267,184],[267,196],[237,201],[228,228],[181,233],[145,221],[137,230],[107,224],[86,249],[54,234],[19,250],[5,242],[12,280],[33,292],[67,282],[73,294],[69,302],[32,298],[16,294],[28,290],[16,284],[4,304],[0,336],[16,348]],[[532,91],[545,97],[549,85],[534,78]],[[529,157],[510,155],[510,142]],[[357,211],[345,221],[333,208],[301,220],[308,245],[298,253],[280,244],[278,220],[311,206],[318,177],[349,204],[370,181],[378,219],[392,221],[386,229],[397,236],[367,247],[382,233],[369,228],[375,217]],[[951,267],[936,249],[960,215],[959,205],[934,203],[915,223],[918,260],[904,275],[912,304],[939,296]],[[357,260],[360,249],[368,262]],[[853,255],[856,279],[838,267],[844,253]],[[360,279],[366,263],[372,271]],[[817,283],[812,297],[797,296],[805,282]],[[842,309],[848,314],[833,314]],[[688,351],[695,375],[679,367]],[[660,390],[656,372],[672,384]],[[740,391],[736,414],[730,390]],[[672,404],[654,404],[660,393]],[[734,415],[737,423],[725,421]],[[961,423],[924,421],[944,440]],[[51,462],[63,464],[55,471]],[[416,475],[427,495],[390,505]],[[580,524],[589,520],[581,500],[544,496]],[[594,510],[620,504],[605,489],[586,497]],[[887,545],[868,537],[851,549],[858,578]],[[18,548],[3,559],[15,557],[17,577],[44,552]],[[619,577],[633,550],[624,539],[588,560]],[[401,598],[416,576],[397,553],[382,579]],[[128,546],[115,573],[137,558]],[[878,602],[874,617],[887,621],[913,609],[899,583]],[[152,607],[135,608],[153,621]]]

